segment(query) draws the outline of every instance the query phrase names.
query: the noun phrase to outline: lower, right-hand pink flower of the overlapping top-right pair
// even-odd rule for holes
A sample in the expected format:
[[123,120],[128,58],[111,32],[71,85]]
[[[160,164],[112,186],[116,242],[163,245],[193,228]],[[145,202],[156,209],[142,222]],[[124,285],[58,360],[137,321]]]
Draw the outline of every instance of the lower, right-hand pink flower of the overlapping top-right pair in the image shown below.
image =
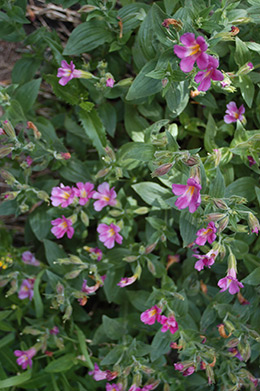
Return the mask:
[[200,71],[195,76],[196,83],[200,83],[198,91],[207,91],[210,88],[211,80],[222,81],[224,79],[223,74],[217,70],[219,62],[216,58],[208,56],[208,66],[205,72]]

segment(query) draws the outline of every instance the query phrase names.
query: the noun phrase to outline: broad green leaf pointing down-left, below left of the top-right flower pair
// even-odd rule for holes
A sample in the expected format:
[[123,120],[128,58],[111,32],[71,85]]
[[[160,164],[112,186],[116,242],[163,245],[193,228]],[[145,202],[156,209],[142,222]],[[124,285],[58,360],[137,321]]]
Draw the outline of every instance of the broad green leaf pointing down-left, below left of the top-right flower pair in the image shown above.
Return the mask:
[[162,90],[161,80],[152,79],[147,76],[149,72],[154,70],[156,64],[156,60],[151,60],[145,64],[129,88],[126,95],[127,100],[144,98]]

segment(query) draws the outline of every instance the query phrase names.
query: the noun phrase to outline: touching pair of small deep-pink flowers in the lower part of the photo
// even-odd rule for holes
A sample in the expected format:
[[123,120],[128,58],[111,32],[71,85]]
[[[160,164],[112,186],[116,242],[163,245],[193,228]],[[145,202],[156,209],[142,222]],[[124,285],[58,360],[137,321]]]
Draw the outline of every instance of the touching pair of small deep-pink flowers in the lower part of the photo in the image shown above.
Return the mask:
[[165,333],[167,330],[170,330],[172,334],[176,333],[178,330],[178,323],[176,322],[175,316],[170,314],[168,317],[165,315],[160,315],[162,312],[161,308],[157,307],[157,305],[152,308],[144,311],[140,319],[143,323],[152,325],[156,321],[162,324],[161,332]]

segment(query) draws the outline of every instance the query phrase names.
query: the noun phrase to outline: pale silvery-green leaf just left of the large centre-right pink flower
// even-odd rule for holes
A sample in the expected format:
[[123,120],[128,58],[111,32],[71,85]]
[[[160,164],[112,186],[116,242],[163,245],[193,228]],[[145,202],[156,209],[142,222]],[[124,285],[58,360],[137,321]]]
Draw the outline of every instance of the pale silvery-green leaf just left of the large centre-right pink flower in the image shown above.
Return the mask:
[[154,182],[137,183],[136,185],[132,185],[132,188],[148,205],[159,206],[162,209],[169,208],[169,205],[164,201],[171,196],[169,189]]

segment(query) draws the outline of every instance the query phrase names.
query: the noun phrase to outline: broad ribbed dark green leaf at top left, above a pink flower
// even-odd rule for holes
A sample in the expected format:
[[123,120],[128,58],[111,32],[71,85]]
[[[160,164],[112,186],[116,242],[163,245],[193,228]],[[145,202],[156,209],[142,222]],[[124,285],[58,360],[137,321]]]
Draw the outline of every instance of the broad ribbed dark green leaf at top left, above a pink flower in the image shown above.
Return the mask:
[[106,27],[105,21],[90,20],[72,31],[63,54],[72,56],[90,52],[106,42],[111,42],[112,38],[113,34]]

